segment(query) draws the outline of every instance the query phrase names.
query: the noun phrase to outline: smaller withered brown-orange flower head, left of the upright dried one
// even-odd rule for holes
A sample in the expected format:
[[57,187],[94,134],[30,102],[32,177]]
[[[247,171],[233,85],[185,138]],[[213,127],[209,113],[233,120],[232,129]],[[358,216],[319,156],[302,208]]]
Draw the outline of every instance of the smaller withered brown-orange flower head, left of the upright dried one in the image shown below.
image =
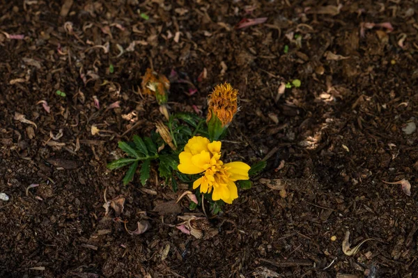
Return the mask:
[[167,94],[170,89],[170,81],[163,74],[157,74],[150,68],[142,77],[142,91],[146,95],[153,95],[157,98],[158,104],[167,103]]

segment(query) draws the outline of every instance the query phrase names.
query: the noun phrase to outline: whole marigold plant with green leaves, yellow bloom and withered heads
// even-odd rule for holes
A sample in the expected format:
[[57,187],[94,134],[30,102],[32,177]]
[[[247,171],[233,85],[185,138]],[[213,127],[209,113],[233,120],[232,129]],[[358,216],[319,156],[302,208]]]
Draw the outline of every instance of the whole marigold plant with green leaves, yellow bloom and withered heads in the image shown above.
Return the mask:
[[[160,107],[167,104],[169,81],[165,76],[148,69],[142,85],[144,93],[155,95]],[[232,204],[238,198],[237,185],[242,189],[251,188],[249,177],[265,167],[265,161],[250,167],[241,161],[224,163],[221,160],[222,138],[237,111],[238,90],[229,83],[217,85],[208,98],[206,119],[190,113],[168,115],[167,112],[167,122],[157,122],[156,132],[150,137],[135,135],[132,142],[118,142],[127,157],[113,161],[107,167],[114,170],[129,166],[124,184],[134,179],[140,167],[139,181],[145,185],[150,177],[150,167],[157,164],[160,178],[171,183],[174,191],[178,188],[178,180],[189,183],[195,190],[199,201],[197,204],[191,202],[190,209],[206,199],[212,214],[217,214],[224,203]]]

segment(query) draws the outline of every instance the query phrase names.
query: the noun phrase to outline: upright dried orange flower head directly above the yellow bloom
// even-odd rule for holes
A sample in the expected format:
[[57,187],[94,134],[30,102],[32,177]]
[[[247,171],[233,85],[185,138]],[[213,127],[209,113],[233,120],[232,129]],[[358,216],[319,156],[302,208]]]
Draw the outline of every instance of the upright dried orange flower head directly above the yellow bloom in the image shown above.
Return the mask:
[[209,122],[213,114],[222,122],[222,126],[231,123],[233,115],[238,110],[238,90],[232,88],[230,83],[216,85],[212,93],[209,95],[208,101],[208,117]]

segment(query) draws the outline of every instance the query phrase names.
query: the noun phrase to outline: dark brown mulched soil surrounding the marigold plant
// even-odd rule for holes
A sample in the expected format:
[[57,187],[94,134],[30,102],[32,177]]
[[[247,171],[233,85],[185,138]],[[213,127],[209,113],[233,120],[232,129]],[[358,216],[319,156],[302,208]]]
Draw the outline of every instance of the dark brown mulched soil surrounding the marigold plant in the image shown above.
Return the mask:
[[[0,8],[0,277],[418,277],[416,1]],[[164,120],[141,95],[148,67],[178,74],[171,113],[206,115],[216,84],[238,88],[224,156],[268,162],[201,239],[175,227],[203,215],[173,205],[187,186],[155,167],[123,186],[106,168],[118,140]],[[410,195],[383,182],[403,179]],[[119,195],[123,213],[105,216]],[[346,231],[351,250],[373,240],[349,256]]]

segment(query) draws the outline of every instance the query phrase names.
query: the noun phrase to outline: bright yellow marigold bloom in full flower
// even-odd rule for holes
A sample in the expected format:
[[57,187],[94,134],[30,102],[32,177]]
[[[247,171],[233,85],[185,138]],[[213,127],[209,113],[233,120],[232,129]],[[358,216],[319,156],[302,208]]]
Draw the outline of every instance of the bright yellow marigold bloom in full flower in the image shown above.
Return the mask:
[[178,170],[183,174],[203,174],[196,179],[193,188],[200,186],[201,193],[211,193],[212,199],[222,199],[228,204],[238,198],[238,188],[235,181],[249,179],[249,165],[236,161],[223,163],[221,161],[220,141],[210,142],[208,138],[194,136],[185,145],[184,152],[178,156]]

